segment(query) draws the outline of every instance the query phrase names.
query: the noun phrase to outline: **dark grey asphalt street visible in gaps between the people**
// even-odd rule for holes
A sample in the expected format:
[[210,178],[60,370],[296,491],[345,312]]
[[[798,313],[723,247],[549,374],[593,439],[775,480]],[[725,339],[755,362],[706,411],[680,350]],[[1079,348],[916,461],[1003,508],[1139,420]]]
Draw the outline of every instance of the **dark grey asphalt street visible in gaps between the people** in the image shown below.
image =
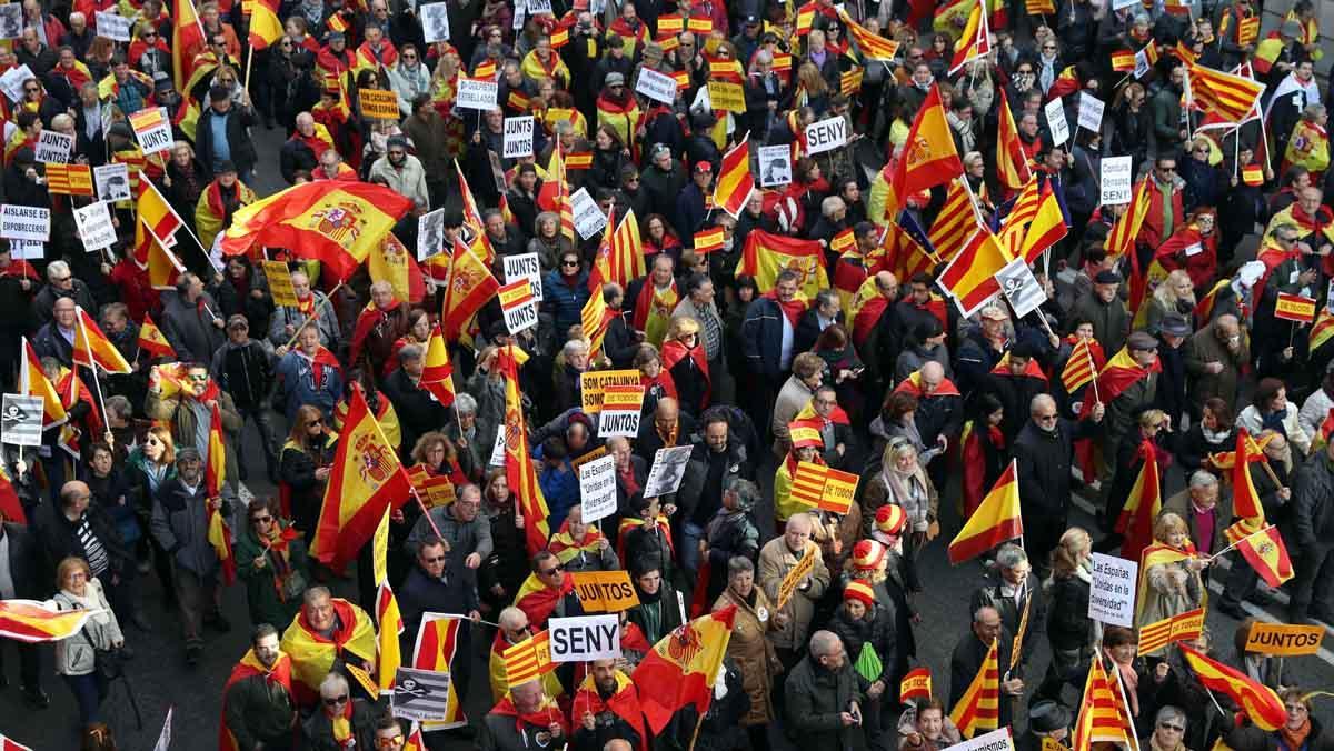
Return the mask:
[[[260,195],[268,195],[281,187],[276,163],[283,135],[280,131],[259,128],[253,132],[253,137],[260,151],[260,169],[255,188]],[[279,419],[276,423],[281,424],[281,420]],[[264,462],[260,456],[260,443],[255,440],[257,436],[253,431],[252,426],[247,427],[245,438],[239,448],[249,468],[251,483],[248,487],[255,495],[263,496],[273,494],[275,490],[263,479]],[[772,467],[768,467],[764,475],[767,479],[763,480],[763,484],[767,490],[772,480]],[[1174,476],[1173,482],[1178,488],[1181,487],[1179,475]],[[916,627],[918,664],[931,667],[936,676],[935,691],[938,696],[948,692],[950,654],[968,628],[967,603],[970,594],[986,580],[978,563],[970,562],[951,567],[946,559],[946,543],[959,528],[958,515],[954,511],[955,496],[955,488],[944,494],[947,500],[942,503],[942,539],[930,544],[922,556],[920,570],[926,591],[915,602],[922,615],[922,623]],[[771,502],[764,502],[756,510],[756,516],[763,520],[772,519]],[[1086,508],[1075,510],[1073,523],[1094,528],[1093,516]],[[767,532],[771,535],[772,530],[767,530]],[[355,579],[348,579],[336,583],[336,594],[351,596],[354,582]],[[143,715],[143,726],[136,726],[125,686],[120,683],[103,706],[104,719],[113,727],[120,748],[151,751],[168,708],[175,707],[173,748],[212,748],[217,738],[223,683],[247,648],[251,624],[247,616],[244,591],[239,586],[225,591],[223,607],[224,614],[231,620],[231,631],[228,634],[207,632],[200,664],[196,668],[187,668],[177,616],[173,611],[163,610],[156,578],[152,574],[140,576],[139,584],[140,600],[152,622],[152,632],[145,634],[127,627],[125,634],[127,643],[136,651],[135,659],[128,666],[128,683],[133,687],[133,696]],[[1270,619],[1275,619],[1278,614],[1281,614],[1278,610],[1271,614],[1261,612]],[[1210,612],[1209,626],[1215,636],[1215,644],[1221,648],[1229,648],[1237,622],[1226,615]],[[490,708],[483,662],[488,643],[483,638],[475,638],[474,644],[479,651],[475,655],[478,666],[474,670],[474,690],[466,703],[466,711],[470,716],[479,716]],[[1039,650],[1034,659],[1030,688],[1041,680],[1042,674],[1038,671],[1045,671],[1049,662],[1045,642]],[[35,712],[20,702],[17,659],[12,647],[0,646],[5,666],[4,675],[9,679],[8,688],[0,691],[0,734],[29,746],[35,751],[76,748],[76,711],[72,694],[61,679],[53,675],[51,648],[45,647],[43,652],[43,680],[52,702],[49,708]],[[1326,690],[1334,687],[1334,656],[1329,651],[1319,656],[1290,659],[1289,670],[1303,687]],[[1334,723],[1334,703],[1318,700],[1317,715],[1326,727],[1330,727]],[[775,748],[788,747],[778,732],[772,734],[772,746]],[[451,742],[450,747],[463,750],[471,747],[471,742],[459,739]]]

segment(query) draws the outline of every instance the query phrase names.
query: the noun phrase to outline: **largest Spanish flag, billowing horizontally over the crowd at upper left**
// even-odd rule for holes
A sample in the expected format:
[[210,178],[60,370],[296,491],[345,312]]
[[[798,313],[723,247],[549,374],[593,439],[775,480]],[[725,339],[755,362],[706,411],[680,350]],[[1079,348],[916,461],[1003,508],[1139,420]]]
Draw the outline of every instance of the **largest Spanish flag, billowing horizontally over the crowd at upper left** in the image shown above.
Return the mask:
[[412,201],[372,183],[316,180],[241,207],[223,233],[223,252],[240,255],[256,243],[319,259],[347,279],[378,248]]

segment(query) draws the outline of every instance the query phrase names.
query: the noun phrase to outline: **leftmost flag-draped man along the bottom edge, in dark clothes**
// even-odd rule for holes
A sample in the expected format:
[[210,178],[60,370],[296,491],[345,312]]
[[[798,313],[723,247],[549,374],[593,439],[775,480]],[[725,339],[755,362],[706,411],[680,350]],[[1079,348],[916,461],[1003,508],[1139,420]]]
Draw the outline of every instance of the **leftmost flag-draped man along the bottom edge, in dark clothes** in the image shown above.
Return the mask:
[[295,723],[292,658],[279,648],[277,630],[260,623],[223,688],[223,738],[237,750],[287,751]]

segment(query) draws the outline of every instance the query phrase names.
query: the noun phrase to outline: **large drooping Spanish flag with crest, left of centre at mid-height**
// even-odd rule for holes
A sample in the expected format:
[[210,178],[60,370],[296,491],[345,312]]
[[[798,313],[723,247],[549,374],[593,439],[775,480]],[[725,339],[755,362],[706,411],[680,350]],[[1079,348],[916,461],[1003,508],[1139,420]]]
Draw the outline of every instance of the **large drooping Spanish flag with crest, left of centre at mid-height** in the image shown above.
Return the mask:
[[386,508],[402,507],[411,488],[398,451],[384,438],[362,388],[354,386],[311,555],[340,571],[371,539]]

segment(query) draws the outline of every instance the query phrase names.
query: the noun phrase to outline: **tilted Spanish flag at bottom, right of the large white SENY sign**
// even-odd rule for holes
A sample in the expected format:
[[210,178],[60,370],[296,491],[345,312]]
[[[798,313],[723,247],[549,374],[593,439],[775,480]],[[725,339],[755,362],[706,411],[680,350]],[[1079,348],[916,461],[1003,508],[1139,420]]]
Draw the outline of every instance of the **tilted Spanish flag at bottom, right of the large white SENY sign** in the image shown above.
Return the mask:
[[686,704],[694,704],[700,716],[708,711],[735,618],[736,606],[728,606],[691,620],[663,636],[635,668],[631,679],[655,734]]

